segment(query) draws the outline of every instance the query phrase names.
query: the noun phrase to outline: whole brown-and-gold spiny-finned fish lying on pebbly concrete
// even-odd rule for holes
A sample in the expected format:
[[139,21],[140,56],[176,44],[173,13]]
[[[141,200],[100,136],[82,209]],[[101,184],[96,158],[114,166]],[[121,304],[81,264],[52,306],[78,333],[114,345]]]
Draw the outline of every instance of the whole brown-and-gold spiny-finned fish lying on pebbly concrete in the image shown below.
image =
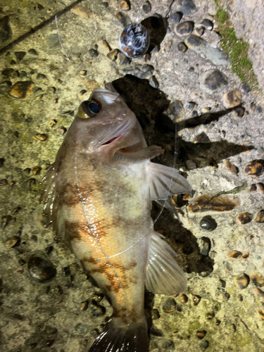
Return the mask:
[[113,315],[89,352],[147,352],[144,290],[179,294],[187,277],[155,232],[152,201],[191,193],[176,170],[153,163],[122,96],[106,84],[83,101],[44,179],[44,214],[101,288]]

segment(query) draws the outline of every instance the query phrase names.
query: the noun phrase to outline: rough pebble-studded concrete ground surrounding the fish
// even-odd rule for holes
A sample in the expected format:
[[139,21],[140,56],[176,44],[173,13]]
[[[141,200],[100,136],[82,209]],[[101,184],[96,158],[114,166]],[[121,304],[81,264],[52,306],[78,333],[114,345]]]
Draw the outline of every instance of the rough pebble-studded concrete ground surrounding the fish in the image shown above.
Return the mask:
[[[109,0],[108,6],[95,0],[0,1],[1,351],[88,351],[111,316],[106,297],[46,226],[39,197],[78,106],[94,88],[113,81],[139,118],[148,144],[165,149],[157,161],[172,166],[176,155],[176,167],[193,188],[191,198],[177,198],[177,215],[164,209],[158,218],[161,208],[153,204],[155,228],[177,252],[188,285],[184,296],[146,294],[153,323],[150,351],[264,351],[264,173],[244,172],[252,161],[263,165],[263,93],[242,89],[229,64],[215,65],[218,61],[203,52],[177,49],[183,38],[175,34],[175,23],[163,18],[182,6],[182,22],[207,18],[216,25],[215,1],[149,2],[150,13],[142,11],[144,1],[131,0],[123,15],[149,25],[151,58],[120,65],[106,54],[89,54],[101,41],[109,50],[118,49],[119,1]],[[235,8],[232,23],[249,41],[263,88],[263,5],[260,0],[231,3],[221,2]],[[220,50],[217,41],[214,45]],[[153,70],[141,79],[137,74],[147,72],[146,64]],[[201,82],[214,70],[227,84],[212,93],[201,89]],[[150,77],[158,88],[149,84]],[[223,103],[224,94],[234,89],[241,94],[241,118]],[[173,101],[177,109],[170,110]],[[200,204],[202,211],[191,211],[188,204],[201,196],[208,200]],[[234,208],[216,210],[221,199]],[[243,213],[252,220],[239,224],[236,218]],[[214,230],[200,226],[205,216],[213,218]]]

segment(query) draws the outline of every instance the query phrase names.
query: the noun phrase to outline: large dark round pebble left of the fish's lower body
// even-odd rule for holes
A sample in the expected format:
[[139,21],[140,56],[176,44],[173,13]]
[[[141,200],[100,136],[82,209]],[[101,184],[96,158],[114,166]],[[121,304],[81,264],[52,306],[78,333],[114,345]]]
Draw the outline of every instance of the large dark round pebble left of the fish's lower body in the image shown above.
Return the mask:
[[30,256],[27,268],[32,279],[37,282],[49,282],[56,276],[54,265],[45,256],[40,256],[37,253]]

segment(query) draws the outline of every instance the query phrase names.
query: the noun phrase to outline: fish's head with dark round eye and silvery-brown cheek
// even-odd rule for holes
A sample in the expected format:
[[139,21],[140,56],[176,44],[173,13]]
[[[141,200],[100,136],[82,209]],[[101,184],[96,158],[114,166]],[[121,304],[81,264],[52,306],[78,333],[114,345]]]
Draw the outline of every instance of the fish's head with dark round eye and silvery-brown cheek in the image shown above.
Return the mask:
[[94,89],[89,100],[83,101],[75,117],[78,126],[78,142],[85,151],[101,150],[113,142],[120,142],[130,134],[138,121],[122,96],[106,84],[106,89]]

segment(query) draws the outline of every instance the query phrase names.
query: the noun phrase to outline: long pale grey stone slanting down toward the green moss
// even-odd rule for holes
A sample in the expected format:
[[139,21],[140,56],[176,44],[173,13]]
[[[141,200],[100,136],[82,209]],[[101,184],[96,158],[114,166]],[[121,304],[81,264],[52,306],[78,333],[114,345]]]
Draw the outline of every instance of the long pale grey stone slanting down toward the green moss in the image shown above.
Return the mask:
[[196,35],[191,34],[184,40],[184,43],[189,49],[196,51],[197,54],[206,56],[206,58],[215,65],[229,65],[230,58],[225,54],[224,51],[220,51],[217,48],[213,48],[208,45],[205,40]]

